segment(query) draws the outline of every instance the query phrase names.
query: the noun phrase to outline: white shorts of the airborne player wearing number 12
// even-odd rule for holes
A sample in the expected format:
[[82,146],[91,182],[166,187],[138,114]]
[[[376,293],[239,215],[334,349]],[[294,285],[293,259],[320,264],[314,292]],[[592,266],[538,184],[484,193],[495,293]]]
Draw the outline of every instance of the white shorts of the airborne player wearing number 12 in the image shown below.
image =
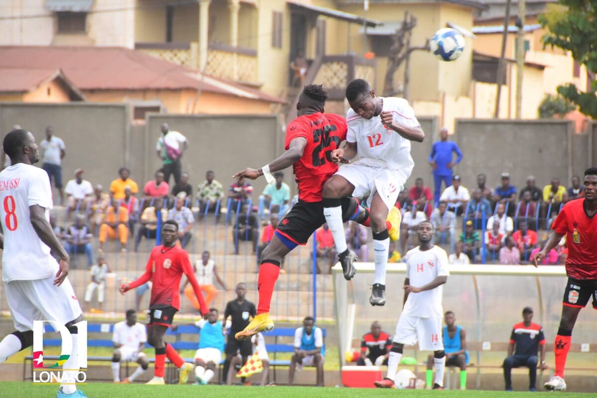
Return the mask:
[[378,192],[388,209],[392,209],[396,204],[398,194],[404,189],[408,179],[408,176],[400,170],[359,165],[358,161],[352,165],[342,166],[336,174],[346,178],[355,186],[352,196],[355,198],[369,196],[367,205],[371,206],[373,195]]

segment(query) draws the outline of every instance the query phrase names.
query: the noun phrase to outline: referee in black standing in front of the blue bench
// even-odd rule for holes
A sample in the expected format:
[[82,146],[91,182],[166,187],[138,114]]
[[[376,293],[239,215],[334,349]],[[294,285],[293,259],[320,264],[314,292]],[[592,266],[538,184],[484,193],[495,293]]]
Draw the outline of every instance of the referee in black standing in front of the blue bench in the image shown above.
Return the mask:
[[238,285],[236,285],[236,299],[229,301],[228,304],[226,304],[226,310],[224,311],[224,319],[222,320],[223,325],[226,325],[226,320],[229,316],[232,317],[232,325],[230,326],[230,332],[226,343],[226,360],[224,361],[224,371],[222,372],[224,382],[226,382],[232,357],[234,357],[238,351],[241,351],[242,363],[245,363],[253,353],[251,339],[236,340],[234,337],[236,333],[244,330],[251,318],[257,314],[255,304],[245,300],[245,294],[247,294],[247,283],[238,283]]

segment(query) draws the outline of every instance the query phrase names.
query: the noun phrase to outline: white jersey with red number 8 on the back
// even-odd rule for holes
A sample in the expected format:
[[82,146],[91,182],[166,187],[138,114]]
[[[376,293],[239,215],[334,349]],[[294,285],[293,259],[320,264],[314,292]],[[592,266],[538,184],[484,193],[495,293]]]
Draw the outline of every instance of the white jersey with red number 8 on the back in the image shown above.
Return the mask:
[[39,239],[29,217],[29,206],[45,208],[50,220],[52,190],[48,174],[25,163],[0,172],[0,222],[4,232],[2,280],[44,279],[58,272],[50,248]]

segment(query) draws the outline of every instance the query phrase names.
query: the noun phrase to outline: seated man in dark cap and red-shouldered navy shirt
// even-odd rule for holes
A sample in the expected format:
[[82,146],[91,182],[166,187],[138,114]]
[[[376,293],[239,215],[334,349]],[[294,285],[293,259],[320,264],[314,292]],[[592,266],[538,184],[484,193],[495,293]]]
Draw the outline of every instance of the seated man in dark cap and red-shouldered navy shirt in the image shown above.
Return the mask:
[[533,320],[533,308],[524,307],[522,309],[523,322],[516,323],[512,328],[510,335],[510,344],[508,344],[508,356],[504,359],[504,380],[506,381],[506,391],[512,391],[512,379],[510,372],[512,368],[527,366],[529,391],[537,391],[537,352],[541,346],[541,370],[547,369],[545,365],[545,337],[543,328]]

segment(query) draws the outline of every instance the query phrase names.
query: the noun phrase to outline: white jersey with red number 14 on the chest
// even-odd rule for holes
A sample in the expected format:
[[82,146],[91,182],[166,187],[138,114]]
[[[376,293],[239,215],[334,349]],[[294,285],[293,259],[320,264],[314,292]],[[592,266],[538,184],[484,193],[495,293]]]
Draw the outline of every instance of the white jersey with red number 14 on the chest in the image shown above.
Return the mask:
[[[407,252],[407,277],[411,286],[420,288],[438,276],[448,276],[448,255],[439,246],[421,251],[421,246]],[[442,317],[442,286],[419,293],[409,293],[402,315],[421,318]]]

